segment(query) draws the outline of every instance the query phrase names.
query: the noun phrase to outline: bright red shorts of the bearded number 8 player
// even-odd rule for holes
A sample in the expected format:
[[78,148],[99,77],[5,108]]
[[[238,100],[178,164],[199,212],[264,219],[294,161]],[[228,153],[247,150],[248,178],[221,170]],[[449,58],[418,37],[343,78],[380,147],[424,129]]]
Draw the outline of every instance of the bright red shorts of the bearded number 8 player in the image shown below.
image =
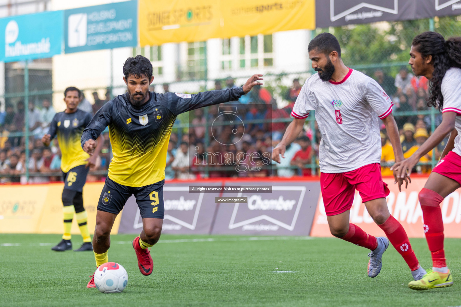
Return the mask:
[[326,215],[350,210],[355,189],[359,191],[364,203],[389,195],[379,163],[368,164],[345,173],[320,173],[320,188]]

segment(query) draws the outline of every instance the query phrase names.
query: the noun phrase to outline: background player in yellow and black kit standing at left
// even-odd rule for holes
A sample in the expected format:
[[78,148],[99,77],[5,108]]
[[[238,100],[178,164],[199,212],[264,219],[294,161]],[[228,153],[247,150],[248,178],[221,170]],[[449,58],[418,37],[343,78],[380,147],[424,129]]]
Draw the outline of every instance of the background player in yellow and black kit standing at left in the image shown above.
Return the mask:
[[90,113],[77,109],[80,97],[81,92],[78,88],[68,87],[65,89],[64,101],[67,108],[64,112],[56,113],[50,124],[49,134],[45,134],[41,138],[43,144],[49,146],[51,140],[57,136],[62,153],[64,235],[62,236],[62,241],[51,248],[56,251],[72,249],[71,226],[74,212],[83,237],[82,246],[75,251],[93,250],[87,225],[87,212],[83,208],[82,191],[89,168],[95,165],[103,140],[102,136],[100,136],[99,144],[96,146],[93,156],[89,156],[82,150],[80,137],[92,116]]

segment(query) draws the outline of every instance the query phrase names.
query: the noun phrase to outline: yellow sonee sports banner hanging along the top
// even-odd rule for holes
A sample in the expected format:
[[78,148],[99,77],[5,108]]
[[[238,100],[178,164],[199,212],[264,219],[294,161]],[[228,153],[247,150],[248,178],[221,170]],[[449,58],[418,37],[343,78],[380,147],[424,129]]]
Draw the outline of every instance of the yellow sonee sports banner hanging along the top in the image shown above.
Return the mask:
[[139,0],[141,46],[315,29],[315,0]]

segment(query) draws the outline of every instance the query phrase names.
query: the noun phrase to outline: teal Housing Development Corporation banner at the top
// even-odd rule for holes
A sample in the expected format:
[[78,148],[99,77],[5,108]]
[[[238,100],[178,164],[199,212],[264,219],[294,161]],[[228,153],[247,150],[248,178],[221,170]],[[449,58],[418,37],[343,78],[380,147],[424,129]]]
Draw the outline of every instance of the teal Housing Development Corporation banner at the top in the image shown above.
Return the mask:
[[64,11],[65,53],[137,46],[138,1]]

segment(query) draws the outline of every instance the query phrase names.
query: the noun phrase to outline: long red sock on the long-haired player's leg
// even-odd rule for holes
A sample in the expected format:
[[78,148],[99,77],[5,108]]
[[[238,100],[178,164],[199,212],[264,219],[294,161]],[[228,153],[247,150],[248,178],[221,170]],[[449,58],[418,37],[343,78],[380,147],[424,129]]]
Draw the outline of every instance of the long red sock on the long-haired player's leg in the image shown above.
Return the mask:
[[432,266],[447,266],[443,250],[443,219],[440,203],[443,197],[437,192],[423,188],[418,195],[423,211],[424,234],[432,255]]

